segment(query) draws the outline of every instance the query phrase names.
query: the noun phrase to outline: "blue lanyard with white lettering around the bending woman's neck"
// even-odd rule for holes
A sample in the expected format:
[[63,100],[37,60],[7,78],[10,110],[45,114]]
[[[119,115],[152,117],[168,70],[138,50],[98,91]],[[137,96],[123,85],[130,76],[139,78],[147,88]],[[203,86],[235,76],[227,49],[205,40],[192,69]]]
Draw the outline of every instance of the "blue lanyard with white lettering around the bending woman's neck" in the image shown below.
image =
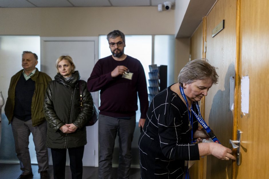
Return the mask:
[[[180,92],[181,92],[181,95],[183,97],[183,99],[185,100],[186,104],[187,104],[187,111],[189,112],[188,110],[188,102],[187,102],[187,98],[186,98],[186,95],[183,91],[183,88],[179,85],[179,89],[180,89]],[[216,142],[216,143],[219,143],[219,140],[217,139],[217,137],[215,136],[215,134],[213,133],[213,131],[209,128],[209,126],[205,123],[205,120],[203,120],[202,116],[201,116],[201,113],[200,113],[200,110],[199,110],[199,105],[198,105],[198,102],[195,101],[195,106],[198,110],[198,115],[196,114],[196,112],[193,110],[193,108],[191,108],[191,112],[194,114],[194,116],[197,118],[197,120],[199,121],[199,123],[203,126],[203,128],[206,130],[207,134],[210,136],[210,138],[213,140],[213,142]],[[191,136],[192,137],[192,136]]]

